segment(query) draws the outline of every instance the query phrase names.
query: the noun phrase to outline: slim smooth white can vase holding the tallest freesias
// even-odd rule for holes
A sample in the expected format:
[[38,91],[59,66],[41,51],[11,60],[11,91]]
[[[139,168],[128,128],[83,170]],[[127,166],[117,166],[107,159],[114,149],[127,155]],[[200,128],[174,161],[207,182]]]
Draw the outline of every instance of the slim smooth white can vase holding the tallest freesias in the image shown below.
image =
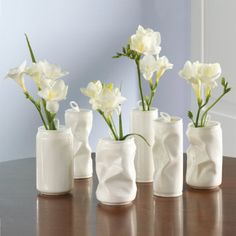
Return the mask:
[[148,146],[143,139],[135,137],[137,147],[135,156],[135,169],[137,182],[152,182],[154,173],[152,145],[154,143],[153,121],[157,119],[156,108],[150,111],[133,109],[131,112],[131,133],[141,134],[149,142]]

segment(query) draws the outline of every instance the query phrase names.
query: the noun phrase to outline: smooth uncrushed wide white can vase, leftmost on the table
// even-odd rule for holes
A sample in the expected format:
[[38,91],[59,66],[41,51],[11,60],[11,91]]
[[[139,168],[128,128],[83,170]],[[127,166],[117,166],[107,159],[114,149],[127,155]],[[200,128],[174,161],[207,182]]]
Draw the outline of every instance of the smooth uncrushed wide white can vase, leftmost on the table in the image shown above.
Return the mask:
[[37,190],[60,195],[73,188],[73,136],[61,126],[58,130],[39,127],[36,137]]

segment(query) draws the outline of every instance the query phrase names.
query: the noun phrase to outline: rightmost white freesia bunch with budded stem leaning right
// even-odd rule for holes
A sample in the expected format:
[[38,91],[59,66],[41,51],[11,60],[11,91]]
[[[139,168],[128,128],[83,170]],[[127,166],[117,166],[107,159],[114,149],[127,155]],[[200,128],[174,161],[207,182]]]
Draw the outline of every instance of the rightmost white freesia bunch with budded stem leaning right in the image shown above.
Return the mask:
[[[188,112],[188,117],[192,120],[193,125],[197,127],[205,127],[208,120],[208,112],[212,109],[231,88],[228,86],[225,78],[221,79],[223,91],[221,95],[208,105],[212,90],[217,87],[217,79],[221,76],[221,66],[219,63],[206,64],[198,61],[191,63],[187,61],[179,75],[187,80],[194,90],[197,97],[198,111],[194,120],[193,113]],[[208,106],[207,106],[208,105]]]

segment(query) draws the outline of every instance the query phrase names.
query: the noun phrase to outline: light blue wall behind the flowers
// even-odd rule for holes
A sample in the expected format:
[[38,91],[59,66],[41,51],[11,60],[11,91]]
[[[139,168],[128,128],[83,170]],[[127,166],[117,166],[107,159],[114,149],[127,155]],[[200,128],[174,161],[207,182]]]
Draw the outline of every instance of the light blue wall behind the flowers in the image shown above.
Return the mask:
[[[25,44],[27,32],[40,59],[63,66],[69,94],[61,103],[59,118],[70,100],[89,107],[79,88],[91,80],[123,81],[122,93],[128,98],[123,106],[125,129],[129,111],[138,99],[136,71],[126,59],[112,55],[127,41],[138,24],[153,27],[162,34],[162,47],[175,69],[158,89],[160,110],[185,115],[190,102],[186,85],[177,71],[189,57],[189,6],[187,0],[1,0],[0,77],[24,59],[30,61]],[[31,84],[28,84],[32,87]],[[33,87],[32,87],[33,88]],[[0,80],[0,161],[35,155],[35,134],[40,125],[38,114],[13,81]],[[91,145],[95,150],[107,127],[94,114]]]

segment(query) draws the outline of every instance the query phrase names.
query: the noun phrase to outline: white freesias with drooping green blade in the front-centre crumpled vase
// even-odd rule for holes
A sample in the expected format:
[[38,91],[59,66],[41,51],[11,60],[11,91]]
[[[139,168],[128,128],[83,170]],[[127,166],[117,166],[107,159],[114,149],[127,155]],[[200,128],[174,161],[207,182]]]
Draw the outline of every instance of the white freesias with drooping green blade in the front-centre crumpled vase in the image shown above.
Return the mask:
[[[89,103],[92,105],[92,109],[97,111],[103,117],[114,140],[122,141],[129,136],[137,135],[147,143],[146,139],[140,134],[130,133],[124,135],[121,104],[126,100],[126,98],[121,95],[119,88],[114,87],[112,83],[105,84],[98,80],[90,82],[87,88],[81,88],[81,92],[90,98]],[[113,119],[114,113],[118,115],[119,132],[117,131]]]

